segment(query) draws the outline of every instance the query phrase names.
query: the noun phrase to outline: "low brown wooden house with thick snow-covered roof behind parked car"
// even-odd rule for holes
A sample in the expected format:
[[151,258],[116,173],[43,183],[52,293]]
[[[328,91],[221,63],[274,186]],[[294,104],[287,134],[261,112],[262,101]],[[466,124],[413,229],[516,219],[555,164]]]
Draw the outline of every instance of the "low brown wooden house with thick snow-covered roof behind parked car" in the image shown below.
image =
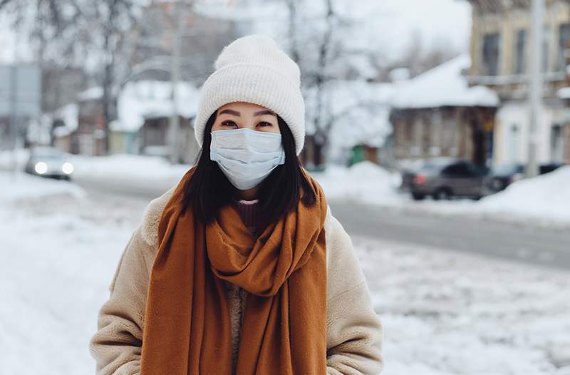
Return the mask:
[[393,158],[405,163],[433,157],[472,160],[489,166],[497,93],[470,87],[462,75],[470,56],[457,56],[398,83],[392,98]]

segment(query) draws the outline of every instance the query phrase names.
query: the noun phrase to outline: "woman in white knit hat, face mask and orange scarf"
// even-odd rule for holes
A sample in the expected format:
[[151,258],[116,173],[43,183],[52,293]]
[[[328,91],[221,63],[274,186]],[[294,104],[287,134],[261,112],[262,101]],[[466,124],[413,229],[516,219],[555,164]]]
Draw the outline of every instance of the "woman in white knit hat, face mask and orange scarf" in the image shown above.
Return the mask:
[[118,262],[90,341],[98,374],[378,374],[382,326],[351,239],[299,163],[299,67],[250,35],[215,69],[197,164]]

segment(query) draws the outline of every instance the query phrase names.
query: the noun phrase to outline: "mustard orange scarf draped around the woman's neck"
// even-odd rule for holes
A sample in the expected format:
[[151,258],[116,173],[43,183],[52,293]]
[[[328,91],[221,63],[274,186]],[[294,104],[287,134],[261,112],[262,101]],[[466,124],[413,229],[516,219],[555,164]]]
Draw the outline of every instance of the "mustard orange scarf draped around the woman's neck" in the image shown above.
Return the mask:
[[[326,374],[326,200],[317,197],[256,239],[235,207],[209,225],[182,213],[190,169],[162,212],[142,339],[142,375],[230,375],[232,337],[224,280],[250,294],[237,375]],[[276,187],[279,188],[279,187]]]

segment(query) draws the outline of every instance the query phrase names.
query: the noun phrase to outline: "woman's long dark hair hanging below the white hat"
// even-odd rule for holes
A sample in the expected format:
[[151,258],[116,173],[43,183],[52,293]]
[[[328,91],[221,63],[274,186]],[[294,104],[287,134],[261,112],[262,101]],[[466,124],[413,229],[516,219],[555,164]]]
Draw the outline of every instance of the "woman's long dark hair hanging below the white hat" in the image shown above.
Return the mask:
[[[185,210],[192,207],[195,220],[204,224],[212,222],[219,214],[219,209],[239,199],[237,190],[219,169],[216,162],[210,160],[210,141],[212,126],[217,111],[209,116],[204,129],[204,142],[197,156],[195,172],[187,180],[182,197]],[[295,140],[286,122],[277,115],[281,130],[281,143],[285,150],[285,163],[277,166],[259,186],[259,227],[261,232],[269,223],[294,210],[299,200],[307,207],[315,205],[316,194],[301,170],[301,161],[295,152]],[[301,192],[303,196],[301,197]]]

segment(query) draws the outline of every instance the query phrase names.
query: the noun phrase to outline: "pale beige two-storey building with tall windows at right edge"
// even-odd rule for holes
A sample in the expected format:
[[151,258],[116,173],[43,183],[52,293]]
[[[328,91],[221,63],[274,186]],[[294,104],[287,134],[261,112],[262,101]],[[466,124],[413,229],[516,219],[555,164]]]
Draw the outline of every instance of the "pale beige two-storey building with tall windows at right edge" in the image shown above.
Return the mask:
[[[494,164],[526,163],[529,155],[529,71],[531,0],[470,0],[472,65],[470,85],[495,91],[502,105],[494,127]],[[537,161],[570,163],[570,135],[564,102],[556,95],[567,86],[566,54],[570,43],[569,1],[546,0],[541,115],[537,125]]]

